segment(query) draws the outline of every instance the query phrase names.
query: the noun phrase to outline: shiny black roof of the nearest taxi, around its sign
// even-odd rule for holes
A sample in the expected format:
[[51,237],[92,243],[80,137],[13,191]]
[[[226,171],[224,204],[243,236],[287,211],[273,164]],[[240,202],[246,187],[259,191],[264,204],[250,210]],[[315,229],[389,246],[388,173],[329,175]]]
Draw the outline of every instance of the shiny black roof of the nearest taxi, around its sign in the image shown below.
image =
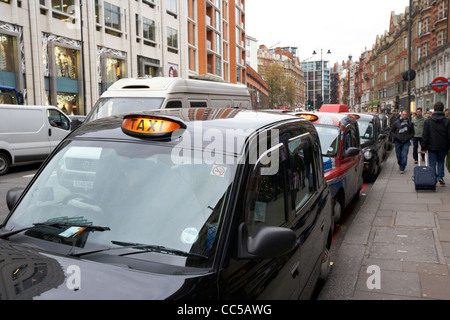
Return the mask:
[[[260,130],[268,130],[281,126],[283,124],[295,124],[308,126],[309,121],[286,114],[277,114],[270,112],[257,112],[245,109],[232,108],[180,108],[180,109],[159,109],[142,112],[132,112],[121,115],[115,115],[83,124],[75,130],[68,139],[107,139],[107,140],[129,140],[140,143],[161,143],[159,139],[140,139],[125,134],[122,131],[122,123],[127,115],[149,115],[160,117],[172,117],[180,119],[186,124],[186,131],[190,137],[199,132],[220,133],[225,138],[234,138],[236,142],[235,153],[240,153],[247,139]],[[201,130],[201,131],[199,131]],[[183,134],[183,139],[186,133]],[[205,138],[206,139],[206,138]],[[168,141],[163,142],[166,145],[180,145],[183,147],[192,147],[192,144],[186,141]],[[206,148],[212,141],[201,141],[202,147]],[[195,147],[200,147],[196,145]]]

